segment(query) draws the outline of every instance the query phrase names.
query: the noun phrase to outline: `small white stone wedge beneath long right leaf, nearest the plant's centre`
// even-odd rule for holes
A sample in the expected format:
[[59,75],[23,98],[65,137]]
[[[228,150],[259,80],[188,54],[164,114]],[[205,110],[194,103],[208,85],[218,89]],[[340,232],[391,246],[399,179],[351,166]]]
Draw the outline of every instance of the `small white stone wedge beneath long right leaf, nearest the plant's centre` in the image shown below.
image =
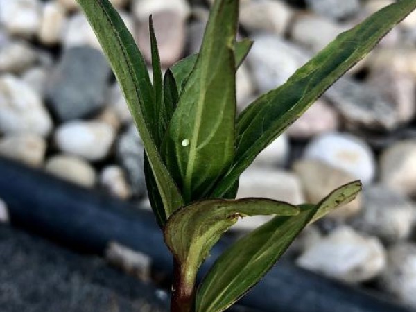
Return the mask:
[[252,165],[266,168],[284,166],[288,160],[289,148],[288,137],[280,135],[256,157]]

